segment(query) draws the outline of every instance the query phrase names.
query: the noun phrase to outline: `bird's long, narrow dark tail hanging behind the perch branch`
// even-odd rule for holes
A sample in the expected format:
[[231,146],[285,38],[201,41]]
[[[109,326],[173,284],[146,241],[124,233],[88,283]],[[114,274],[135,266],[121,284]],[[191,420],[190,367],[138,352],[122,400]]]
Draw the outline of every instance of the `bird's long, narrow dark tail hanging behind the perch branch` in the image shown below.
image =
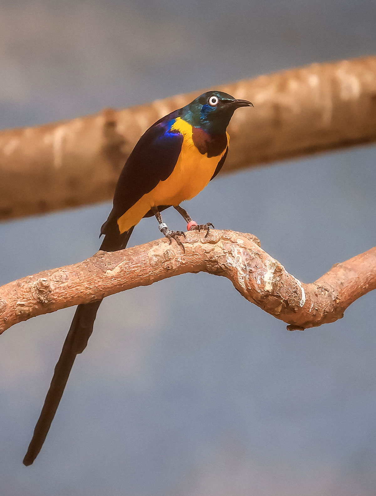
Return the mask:
[[[109,220],[103,225],[103,234],[106,234],[101,245],[104,251],[117,251],[126,247],[126,244],[132,234],[133,227],[123,234],[119,234],[117,223],[112,222],[111,214]],[[87,342],[93,332],[93,324],[97,315],[97,310],[102,300],[78,305],[74,314],[68,334],[65,338],[62,353],[55,367],[50,389],[48,390],[41,414],[34,429],[33,437],[30,441],[25,458],[24,465],[31,465],[38,456],[47,433],[54,420],[56,410],[63,396],[65,384],[68,380],[69,373],[72,369],[74,360],[79,353],[86,348]]]

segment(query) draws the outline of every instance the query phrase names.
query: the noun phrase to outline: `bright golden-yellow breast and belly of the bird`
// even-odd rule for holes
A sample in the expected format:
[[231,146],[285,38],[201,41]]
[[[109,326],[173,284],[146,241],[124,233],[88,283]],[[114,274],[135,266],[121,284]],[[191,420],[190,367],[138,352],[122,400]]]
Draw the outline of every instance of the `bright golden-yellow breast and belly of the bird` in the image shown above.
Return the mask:
[[[216,157],[202,155],[193,144],[192,126],[180,117],[172,126],[183,136],[182,150],[172,174],[149,193],[144,194],[118,220],[120,232],[123,233],[138,224],[152,207],[159,205],[179,205],[182,201],[196,196],[213,177],[214,171],[226,150]],[[227,134],[227,133],[226,133]],[[227,134],[227,143],[229,135]]]

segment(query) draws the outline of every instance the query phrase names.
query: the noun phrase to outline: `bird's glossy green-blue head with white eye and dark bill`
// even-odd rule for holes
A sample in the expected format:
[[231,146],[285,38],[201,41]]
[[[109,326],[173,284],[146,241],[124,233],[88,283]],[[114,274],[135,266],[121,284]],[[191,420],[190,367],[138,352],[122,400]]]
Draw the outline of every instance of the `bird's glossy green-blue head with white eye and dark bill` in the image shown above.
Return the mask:
[[253,107],[248,100],[237,100],[221,91],[207,91],[181,109],[180,116],[193,127],[224,133],[239,107]]

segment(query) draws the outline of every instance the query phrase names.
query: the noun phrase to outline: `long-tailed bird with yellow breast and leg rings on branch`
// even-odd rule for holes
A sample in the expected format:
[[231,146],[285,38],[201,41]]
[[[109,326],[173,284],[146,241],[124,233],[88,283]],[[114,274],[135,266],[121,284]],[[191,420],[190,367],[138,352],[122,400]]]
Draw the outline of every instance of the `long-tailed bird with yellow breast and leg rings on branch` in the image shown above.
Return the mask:
[[[221,170],[229,148],[227,126],[236,109],[253,107],[227,93],[208,91],[188,105],[163,117],[140,137],[120,174],[113,208],[102,225],[104,251],[126,247],[134,227],[155,216],[160,232],[184,250],[182,231],[172,231],[161,212],[174,207],[187,222],[187,230],[206,230],[180,205],[196,196]],[[56,364],[34,434],[23,459],[31,465],[46,439],[76,356],[86,348],[102,300],[78,305]]]

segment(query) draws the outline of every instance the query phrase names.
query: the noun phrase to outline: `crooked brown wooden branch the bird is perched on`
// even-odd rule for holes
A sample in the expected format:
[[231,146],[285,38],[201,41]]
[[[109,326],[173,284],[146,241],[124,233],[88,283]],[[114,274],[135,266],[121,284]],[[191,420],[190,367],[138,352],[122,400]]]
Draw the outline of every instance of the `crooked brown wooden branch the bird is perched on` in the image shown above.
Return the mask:
[[290,324],[289,330],[334,322],[356,299],[376,289],[376,248],[301,283],[251,234],[189,232],[182,248],[161,239],[46,270],[0,288],[0,332],[22,320],[87,303],[187,272],[225,276],[250,302]]

